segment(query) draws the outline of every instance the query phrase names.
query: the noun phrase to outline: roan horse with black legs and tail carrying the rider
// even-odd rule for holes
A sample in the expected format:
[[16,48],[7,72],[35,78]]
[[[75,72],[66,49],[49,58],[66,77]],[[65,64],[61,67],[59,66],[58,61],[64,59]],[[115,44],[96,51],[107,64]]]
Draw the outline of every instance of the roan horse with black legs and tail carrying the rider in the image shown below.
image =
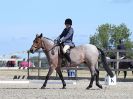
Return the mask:
[[[43,83],[41,89],[46,88],[47,81],[54,70],[56,70],[56,72],[58,73],[62,81],[62,85],[63,85],[62,89],[66,89],[66,82],[64,81],[64,78],[61,72],[62,54],[60,53],[60,46],[55,46],[53,40],[47,37],[43,37],[41,33],[40,35],[36,35],[29,52],[34,53],[39,49],[42,49],[43,52],[45,53],[50,66],[49,71],[45,78],[45,82]],[[74,64],[73,66],[77,66],[81,63],[84,63],[90,69],[91,79],[90,79],[90,84],[86,89],[92,88],[95,78],[96,78],[96,86],[102,89],[102,85],[99,83],[99,70],[96,66],[98,62],[98,57],[99,57],[98,50],[101,52],[101,60],[103,63],[103,67],[107,71],[108,75],[110,75],[110,77],[114,77],[113,72],[107,65],[105,54],[100,48],[97,48],[95,45],[92,45],[92,44],[84,44],[84,45],[76,46],[70,50],[70,58],[71,58],[72,64]],[[53,54],[53,51],[54,51],[54,54]]]

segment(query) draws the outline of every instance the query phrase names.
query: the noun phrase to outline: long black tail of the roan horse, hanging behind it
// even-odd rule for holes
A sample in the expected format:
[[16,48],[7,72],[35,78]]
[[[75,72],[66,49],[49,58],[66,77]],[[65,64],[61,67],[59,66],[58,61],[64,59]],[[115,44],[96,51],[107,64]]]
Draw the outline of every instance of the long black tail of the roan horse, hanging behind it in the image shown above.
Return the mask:
[[107,71],[107,73],[108,73],[108,75],[110,75],[110,77],[113,77],[114,74],[107,64],[105,53],[103,52],[102,49],[100,49],[100,48],[97,48],[97,49],[101,52],[101,60],[102,60],[102,64],[103,64],[104,69]]

